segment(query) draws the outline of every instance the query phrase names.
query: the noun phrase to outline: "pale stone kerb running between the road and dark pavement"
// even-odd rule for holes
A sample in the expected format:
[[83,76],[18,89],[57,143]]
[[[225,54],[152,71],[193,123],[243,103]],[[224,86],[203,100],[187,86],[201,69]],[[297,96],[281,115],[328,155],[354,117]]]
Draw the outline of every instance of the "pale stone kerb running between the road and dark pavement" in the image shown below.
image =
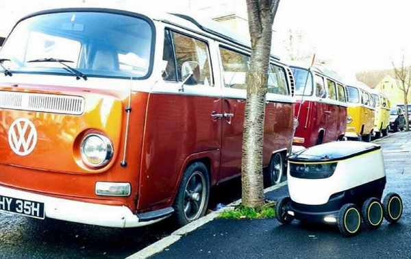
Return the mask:
[[[277,190],[278,188],[281,188],[282,186],[286,186],[286,185],[287,185],[287,181],[284,181],[281,184],[277,184],[275,186],[265,188],[264,193]],[[180,238],[182,238],[182,236],[186,236],[190,232],[197,230],[202,225],[206,225],[206,223],[218,217],[219,214],[221,214],[221,212],[225,210],[233,210],[234,206],[237,206],[240,203],[241,203],[241,199],[238,199],[237,201],[234,201],[231,204],[228,204],[221,210],[216,210],[215,212],[212,212],[206,215],[205,217],[202,217],[201,219],[197,219],[197,221],[194,221],[188,225],[185,225],[184,227],[179,228],[178,230],[175,230],[175,232],[171,233],[170,236],[166,236],[165,238],[158,240],[157,242],[149,245],[148,247],[145,247],[144,249],[141,249],[136,254],[132,254],[131,256],[128,256],[125,259],[146,259],[146,258],[149,258],[150,256],[153,256],[154,254],[158,254],[164,249],[166,249],[167,247],[169,247],[170,245],[173,245],[173,243],[177,242]]]

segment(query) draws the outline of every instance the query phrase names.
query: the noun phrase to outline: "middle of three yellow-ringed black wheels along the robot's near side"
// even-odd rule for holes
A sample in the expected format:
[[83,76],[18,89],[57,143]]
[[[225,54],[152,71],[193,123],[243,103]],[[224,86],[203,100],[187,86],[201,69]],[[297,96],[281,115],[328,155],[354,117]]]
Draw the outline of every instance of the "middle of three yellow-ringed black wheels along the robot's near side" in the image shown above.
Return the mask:
[[361,216],[366,227],[371,230],[377,229],[381,225],[384,217],[382,204],[379,199],[374,197],[366,199],[362,205]]

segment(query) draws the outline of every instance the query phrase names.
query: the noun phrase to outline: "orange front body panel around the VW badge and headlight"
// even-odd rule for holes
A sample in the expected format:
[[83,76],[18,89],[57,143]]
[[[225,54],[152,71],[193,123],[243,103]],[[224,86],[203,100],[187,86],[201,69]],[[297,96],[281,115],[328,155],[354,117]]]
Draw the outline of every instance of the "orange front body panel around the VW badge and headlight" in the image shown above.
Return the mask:
[[[125,141],[125,129],[121,125],[125,125],[127,117],[124,112],[127,91],[33,85],[1,90],[75,95],[86,99],[84,114],[79,116],[0,110],[0,182],[3,186],[75,200],[94,199],[101,204],[124,204],[135,210],[143,127],[133,127],[128,139],[127,167],[120,167]],[[144,125],[147,96],[147,93],[132,95],[132,106],[136,109],[130,117],[130,125]],[[36,126],[38,140],[29,156],[17,156],[8,144],[10,124],[18,118],[27,118]],[[79,145],[87,132],[101,132],[112,140],[114,157],[103,169],[90,169],[81,160]],[[127,198],[97,196],[97,181],[130,182],[132,195]]]

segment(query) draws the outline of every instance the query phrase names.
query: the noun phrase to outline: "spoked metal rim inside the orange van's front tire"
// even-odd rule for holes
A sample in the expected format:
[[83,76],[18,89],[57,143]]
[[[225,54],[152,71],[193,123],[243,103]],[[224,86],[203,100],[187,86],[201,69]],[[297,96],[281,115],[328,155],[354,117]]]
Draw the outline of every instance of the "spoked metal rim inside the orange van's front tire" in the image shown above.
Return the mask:
[[184,190],[184,216],[188,221],[199,218],[205,206],[206,179],[199,171],[193,173]]

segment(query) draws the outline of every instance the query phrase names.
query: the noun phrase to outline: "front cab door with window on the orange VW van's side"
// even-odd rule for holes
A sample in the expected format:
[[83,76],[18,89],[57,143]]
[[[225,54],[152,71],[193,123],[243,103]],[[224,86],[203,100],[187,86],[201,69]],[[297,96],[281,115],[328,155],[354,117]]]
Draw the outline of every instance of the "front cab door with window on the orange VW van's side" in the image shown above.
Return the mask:
[[[138,209],[173,198],[192,154],[213,151],[219,158],[221,123],[212,115],[221,112],[221,90],[214,86],[209,42],[187,35],[164,31],[162,79],[147,103]],[[199,64],[198,84],[182,86],[185,62]]]

